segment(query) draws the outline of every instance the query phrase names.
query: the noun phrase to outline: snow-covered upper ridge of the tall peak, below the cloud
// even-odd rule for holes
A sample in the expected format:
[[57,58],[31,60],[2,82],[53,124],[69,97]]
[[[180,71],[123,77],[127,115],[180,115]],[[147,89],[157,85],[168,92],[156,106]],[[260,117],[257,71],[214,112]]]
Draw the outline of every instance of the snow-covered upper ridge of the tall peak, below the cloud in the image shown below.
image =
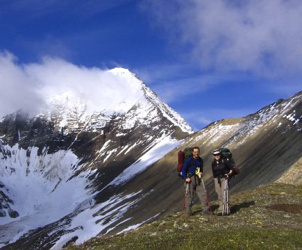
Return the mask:
[[[110,86],[102,83],[103,92],[112,96],[112,101],[102,102],[85,99],[76,92],[68,90],[56,96],[48,97],[49,110],[43,110],[35,114],[35,117],[43,117],[49,121],[56,120],[58,130],[64,128],[65,133],[78,133],[79,131],[99,131],[107,126],[112,119],[126,117],[127,122],[124,124],[124,128],[127,129],[132,128],[135,122],[147,124],[150,120],[160,119],[160,115],[163,115],[172,124],[181,128],[183,132],[193,132],[178,113],[163,103],[140,78],[128,69],[110,69],[108,74],[115,77],[115,81],[126,85],[124,88],[128,88],[128,93],[119,94],[115,99],[115,95],[110,92]],[[160,110],[161,114],[155,110],[156,108]]]

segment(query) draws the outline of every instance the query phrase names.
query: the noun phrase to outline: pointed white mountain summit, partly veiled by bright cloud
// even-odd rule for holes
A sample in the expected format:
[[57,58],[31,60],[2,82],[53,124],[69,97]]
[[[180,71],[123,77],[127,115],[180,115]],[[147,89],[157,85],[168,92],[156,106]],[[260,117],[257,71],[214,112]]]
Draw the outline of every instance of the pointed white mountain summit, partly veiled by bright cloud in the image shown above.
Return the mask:
[[91,115],[126,115],[133,108],[140,107],[136,110],[136,115],[133,114],[133,119],[142,119],[151,110],[157,109],[158,112],[153,113],[154,119],[161,113],[175,126],[180,127],[181,131],[192,133],[192,128],[185,120],[128,69],[110,69],[97,80],[94,78],[93,85],[87,83],[87,88],[81,87],[68,88],[47,99],[51,112],[59,111],[60,116],[64,117],[62,120],[66,122],[62,124],[65,126],[68,126],[67,121],[71,120],[71,117],[73,120],[85,121],[89,120]]

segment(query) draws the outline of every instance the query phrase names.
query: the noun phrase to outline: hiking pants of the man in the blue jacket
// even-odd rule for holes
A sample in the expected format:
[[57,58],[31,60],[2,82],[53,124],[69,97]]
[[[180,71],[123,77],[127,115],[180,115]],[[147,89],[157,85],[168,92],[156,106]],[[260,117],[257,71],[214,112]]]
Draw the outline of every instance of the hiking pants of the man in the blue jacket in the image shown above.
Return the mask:
[[208,206],[205,201],[205,190],[203,189],[201,178],[198,178],[197,176],[192,176],[190,183],[186,185],[189,185],[189,188],[185,186],[185,188],[187,188],[187,194],[185,196],[185,210],[187,211],[187,213],[192,213],[192,204],[194,201],[195,193],[199,197],[203,212],[208,210]]

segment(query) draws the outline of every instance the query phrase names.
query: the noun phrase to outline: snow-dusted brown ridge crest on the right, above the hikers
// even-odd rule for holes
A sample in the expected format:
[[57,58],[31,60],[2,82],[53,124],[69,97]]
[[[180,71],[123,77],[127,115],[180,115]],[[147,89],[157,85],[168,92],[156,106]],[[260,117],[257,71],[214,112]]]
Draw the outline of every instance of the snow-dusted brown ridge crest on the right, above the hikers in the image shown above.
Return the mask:
[[203,145],[209,146],[220,140],[226,142],[221,144],[221,147],[238,147],[253,138],[261,128],[273,126],[275,130],[279,129],[283,123],[287,124],[285,119],[290,121],[290,124],[283,128],[283,133],[291,127],[301,131],[301,115],[299,116],[296,110],[292,110],[301,101],[302,94],[297,94],[291,99],[273,103],[248,117],[215,122],[200,131],[199,135],[190,139],[190,142],[194,144],[202,141]]

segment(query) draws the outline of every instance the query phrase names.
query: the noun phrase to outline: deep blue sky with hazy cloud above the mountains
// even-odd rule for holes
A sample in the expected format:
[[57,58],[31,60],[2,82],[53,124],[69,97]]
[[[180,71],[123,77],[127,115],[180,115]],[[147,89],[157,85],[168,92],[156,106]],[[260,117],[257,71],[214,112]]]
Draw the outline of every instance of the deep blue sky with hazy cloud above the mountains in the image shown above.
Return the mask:
[[302,90],[298,0],[0,0],[0,50],[126,67],[195,129]]

